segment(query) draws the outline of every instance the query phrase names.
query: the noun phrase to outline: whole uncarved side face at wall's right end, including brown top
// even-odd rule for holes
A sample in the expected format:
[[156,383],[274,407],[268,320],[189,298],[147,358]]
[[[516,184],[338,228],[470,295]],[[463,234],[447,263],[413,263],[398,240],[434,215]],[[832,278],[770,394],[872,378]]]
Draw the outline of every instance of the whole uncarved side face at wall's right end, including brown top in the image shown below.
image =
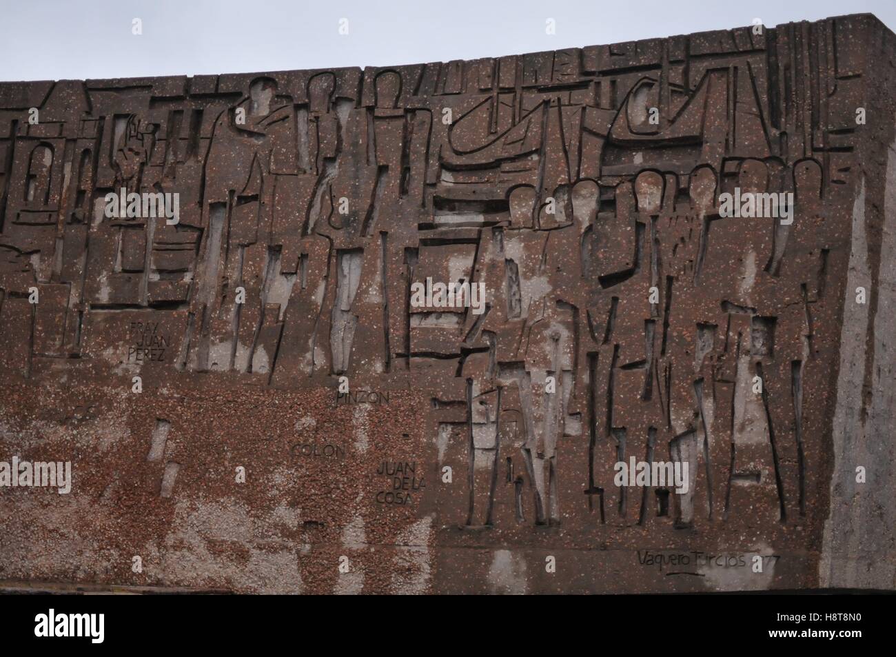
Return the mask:
[[[869,104],[892,111],[893,35],[870,42]],[[896,117],[892,117],[896,122]],[[870,126],[869,126],[870,127]],[[852,247],[844,291],[840,376],[833,425],[831,511],[820,584],[896,588],[896,135],[875,125],[859,151]],[[874,290],[866,305],[856,290]],[[861,383],[861,385],[859,385]],[[857,468],[866,483],[857,483]]]

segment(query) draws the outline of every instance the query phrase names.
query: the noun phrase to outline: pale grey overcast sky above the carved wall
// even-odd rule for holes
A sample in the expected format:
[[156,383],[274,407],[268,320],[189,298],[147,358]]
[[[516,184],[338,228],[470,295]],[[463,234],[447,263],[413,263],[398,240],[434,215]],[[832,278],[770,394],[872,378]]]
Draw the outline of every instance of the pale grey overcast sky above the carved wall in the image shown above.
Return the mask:
[[866,12],[896,30],[896,0],[4,0],[0,80],[418,64]]

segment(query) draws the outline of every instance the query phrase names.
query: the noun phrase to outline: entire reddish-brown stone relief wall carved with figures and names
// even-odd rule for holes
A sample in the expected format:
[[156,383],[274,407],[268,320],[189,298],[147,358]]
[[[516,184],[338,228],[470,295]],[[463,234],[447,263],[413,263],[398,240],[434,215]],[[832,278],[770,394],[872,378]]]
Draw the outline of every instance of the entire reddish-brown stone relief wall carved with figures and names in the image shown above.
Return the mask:
[[893,54],[0,83],[0,461],[73,468],[0,488],[0,585],[893,588]]

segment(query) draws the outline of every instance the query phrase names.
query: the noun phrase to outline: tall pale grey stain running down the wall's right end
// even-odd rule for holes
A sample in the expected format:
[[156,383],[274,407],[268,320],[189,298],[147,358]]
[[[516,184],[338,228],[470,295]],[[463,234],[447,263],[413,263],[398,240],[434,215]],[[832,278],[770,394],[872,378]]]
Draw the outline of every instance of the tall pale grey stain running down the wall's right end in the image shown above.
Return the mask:
[[[879,196],[869,200],[872,212],[881,212]],[[819,563],[822,586],[891,589],[896,583],[896,432],[893,378],[896,348],[896,142],[890,144],[886,185],[883,190],[883,229],[876,289],[873,337],[869,336],[872,283],[867,260],[866,189],[864,177],[853,207],[852,251],[849,255],[840,333],[840,373],[833,430],[834,468],[831,476],[831,510],[824,524]],[[856,288],[864,287],[867,303],[856,302]],[[870,371],[874,395],[862,417],[863,386],[868,346],[874,348]],[[866,467],[866,483],[856,481],[856,467]]]

